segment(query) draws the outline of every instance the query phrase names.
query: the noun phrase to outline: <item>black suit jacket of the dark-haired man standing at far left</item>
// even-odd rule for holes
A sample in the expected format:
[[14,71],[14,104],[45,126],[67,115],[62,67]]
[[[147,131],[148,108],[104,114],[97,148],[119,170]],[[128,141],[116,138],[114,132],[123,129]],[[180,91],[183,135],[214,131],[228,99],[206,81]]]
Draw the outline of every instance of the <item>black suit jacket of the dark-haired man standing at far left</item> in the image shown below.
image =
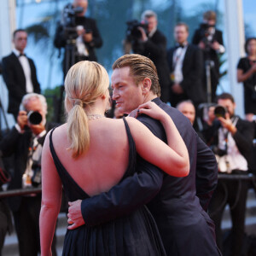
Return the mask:
[[[32,59],[27,59],[31,69],[33,90],[36,93],[40,93],[35,64]],[[26,78],[20,61],[14,53],[3,58],[3,79],[9,90],[8,113],[17,114],[20,109],[21,99],[26,95]]]

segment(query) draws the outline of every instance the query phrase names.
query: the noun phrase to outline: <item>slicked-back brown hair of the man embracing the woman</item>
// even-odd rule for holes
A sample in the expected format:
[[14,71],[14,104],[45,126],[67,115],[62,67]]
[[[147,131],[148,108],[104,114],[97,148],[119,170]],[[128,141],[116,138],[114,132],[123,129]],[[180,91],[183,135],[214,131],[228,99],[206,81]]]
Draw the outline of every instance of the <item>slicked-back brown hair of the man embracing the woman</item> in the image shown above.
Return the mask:
[[151,88],[155,95],[160,96],[160,84],[156,67],[153,61],[143,55],[128,54],[119,57],[113,62],[113,70],[121,67],[130,67],[130,74],[136,84],[142,82],[143,79],[151,80]]

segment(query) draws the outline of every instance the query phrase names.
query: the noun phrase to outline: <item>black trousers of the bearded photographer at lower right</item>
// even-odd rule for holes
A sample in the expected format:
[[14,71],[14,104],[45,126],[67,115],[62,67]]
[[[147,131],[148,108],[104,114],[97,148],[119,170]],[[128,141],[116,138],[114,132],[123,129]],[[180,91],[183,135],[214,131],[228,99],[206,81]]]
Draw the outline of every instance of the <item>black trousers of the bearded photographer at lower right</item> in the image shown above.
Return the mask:
[[208,213],[215,223],[217,245],[223,252],[221,221],[224,208],[229,204],[232,220],[230,246],[230,255],[232,256],[241,255],[248,185],[249,181],[243,179],[219,179],[208,208]]

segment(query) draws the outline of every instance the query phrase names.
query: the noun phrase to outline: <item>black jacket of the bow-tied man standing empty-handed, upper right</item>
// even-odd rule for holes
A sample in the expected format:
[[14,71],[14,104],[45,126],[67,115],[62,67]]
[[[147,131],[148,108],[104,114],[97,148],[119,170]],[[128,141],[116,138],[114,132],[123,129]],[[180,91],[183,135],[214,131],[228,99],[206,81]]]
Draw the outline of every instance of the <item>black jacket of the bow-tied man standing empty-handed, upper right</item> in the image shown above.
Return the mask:
[[[170,69],[170,73],[174,71],[173,54],[176,48],[168,49],[167,61]],[[177,103],[183,100],[191,100],[195,105],[199,105],[201,102],[206,102],[206,89],[203,88],[203,53],[201,49],[193,44],[189,44],[183,59],[183,81],[180,85],[183,88],[183,95],[177,95],[171,90],[171,103],[172,106],[176,106]],[[171,82],[171,86],[173,81]]]

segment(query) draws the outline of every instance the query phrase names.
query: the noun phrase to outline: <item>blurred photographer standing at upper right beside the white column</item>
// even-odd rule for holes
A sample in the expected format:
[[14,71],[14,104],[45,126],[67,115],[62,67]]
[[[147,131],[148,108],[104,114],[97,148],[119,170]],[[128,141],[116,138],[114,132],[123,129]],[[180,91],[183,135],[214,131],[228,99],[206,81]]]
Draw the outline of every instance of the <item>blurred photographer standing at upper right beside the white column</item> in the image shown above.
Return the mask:
[[[216,90],[219,79],[219,61],[218,55],[223,54],[224,43],[222,32],[216,29],[216,13],[209,10],[203,14],[203,22],[201,26],[195,30],[195,34],[192,39],[192,44],[198,45],[204,51],[205,61],[205,86],[208,95],[211,97],[211,102],[215,102]],[[207,67],[210,69],[209,75],[207,74]],[[210,76],[210,84],[207,84],[208,76]],[[207,88],[207,85],[209,88]]]

